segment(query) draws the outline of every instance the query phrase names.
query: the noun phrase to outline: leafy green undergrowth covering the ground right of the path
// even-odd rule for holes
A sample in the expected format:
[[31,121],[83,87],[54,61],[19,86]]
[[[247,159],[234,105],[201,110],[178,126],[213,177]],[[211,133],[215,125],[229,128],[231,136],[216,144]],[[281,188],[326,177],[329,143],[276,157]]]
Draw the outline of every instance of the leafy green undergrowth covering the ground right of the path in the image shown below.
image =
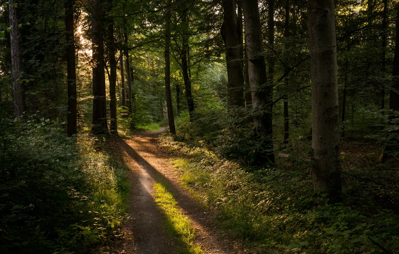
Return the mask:
[[182,181],[216,211],[215,222],[263,253],[399,253],[398,174],[371,163],[378,152],[359,155],[364,145],[348,143],[354,152],[342,158],[346,204],[313,207],[324,194],[312,190],[306,144],[296,142],[278,168],[254,170],[207,147],[160,141],[180,156]]

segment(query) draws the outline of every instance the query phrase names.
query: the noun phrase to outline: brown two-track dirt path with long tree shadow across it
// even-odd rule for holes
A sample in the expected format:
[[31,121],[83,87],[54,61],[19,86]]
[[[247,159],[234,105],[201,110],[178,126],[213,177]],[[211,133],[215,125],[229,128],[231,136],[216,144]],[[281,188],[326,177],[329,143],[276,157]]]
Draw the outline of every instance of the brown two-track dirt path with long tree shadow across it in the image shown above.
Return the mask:
[[194,243],[201,246],[206,254],[242,253],[241,244],[217,232],[211,224],[209,209],[199,205],[182,188],[179,174],[169,162],[171,156],[157,148],[155,138],[165,129],[161,127],[159,131],[146,131],[120,141],[120,152],[131,169],[130,219],[121,229],[124,237],[111,246],[109,253],[174,254],[181,250],[183,244],[176,242],[176,237],[173,238],[165,230],[166,215],[157,207],[154,198],[156,181],[164,182],[169,187],[182,213],[196,230]]

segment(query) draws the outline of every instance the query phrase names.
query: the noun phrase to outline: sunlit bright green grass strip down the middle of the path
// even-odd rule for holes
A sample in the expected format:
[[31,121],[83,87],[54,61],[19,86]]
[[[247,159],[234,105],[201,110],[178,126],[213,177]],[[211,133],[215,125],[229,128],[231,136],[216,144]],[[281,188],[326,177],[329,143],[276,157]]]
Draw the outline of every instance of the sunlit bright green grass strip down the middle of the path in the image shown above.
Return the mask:
[[194,244],[195,229],[191,226],[190,221],[182,214],[178,202],[174,199],[172,193],[167,188],[156,183],[154,185],[155,201],[166,215],[167,229],[172,234],[180,236],[180,240],[187,245],[187,250],[179,253],[184,254],[205,254],[200,246]]

